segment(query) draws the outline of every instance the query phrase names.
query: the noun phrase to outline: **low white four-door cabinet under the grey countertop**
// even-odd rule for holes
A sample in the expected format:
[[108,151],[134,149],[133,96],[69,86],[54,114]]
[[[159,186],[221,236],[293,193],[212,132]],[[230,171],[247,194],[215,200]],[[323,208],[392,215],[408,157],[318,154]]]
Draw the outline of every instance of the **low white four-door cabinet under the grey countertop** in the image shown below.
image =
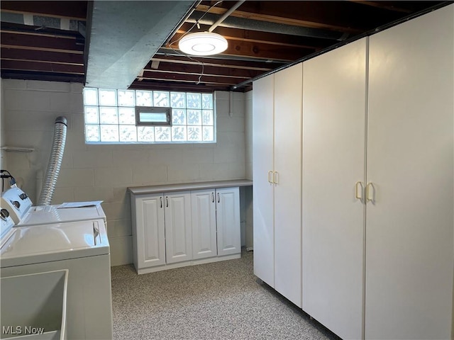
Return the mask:
[[129,190],[133,263],[139,274],[240,258],[239,187]]

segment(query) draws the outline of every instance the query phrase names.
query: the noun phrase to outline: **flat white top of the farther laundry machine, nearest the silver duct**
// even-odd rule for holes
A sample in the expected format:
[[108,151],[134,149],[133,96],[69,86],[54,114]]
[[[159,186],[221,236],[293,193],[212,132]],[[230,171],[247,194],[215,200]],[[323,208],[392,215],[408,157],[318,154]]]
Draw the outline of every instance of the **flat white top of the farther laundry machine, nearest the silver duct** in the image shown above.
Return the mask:
[[59,205],[37,205],[28,210],[18,223],[18,227],[26,225],[47,225],[58,222],[75,222],[84,220],[103,219],[106,222],[106,214],[101,205],[84,208],[57,209]]

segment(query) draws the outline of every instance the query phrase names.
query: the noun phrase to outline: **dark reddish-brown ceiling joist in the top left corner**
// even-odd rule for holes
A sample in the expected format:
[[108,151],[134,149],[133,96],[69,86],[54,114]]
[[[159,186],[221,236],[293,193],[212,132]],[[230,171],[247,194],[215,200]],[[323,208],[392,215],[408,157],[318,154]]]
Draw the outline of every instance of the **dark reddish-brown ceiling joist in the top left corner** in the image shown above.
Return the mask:
[[1,1],[1,11],[87,20],[88,1]]

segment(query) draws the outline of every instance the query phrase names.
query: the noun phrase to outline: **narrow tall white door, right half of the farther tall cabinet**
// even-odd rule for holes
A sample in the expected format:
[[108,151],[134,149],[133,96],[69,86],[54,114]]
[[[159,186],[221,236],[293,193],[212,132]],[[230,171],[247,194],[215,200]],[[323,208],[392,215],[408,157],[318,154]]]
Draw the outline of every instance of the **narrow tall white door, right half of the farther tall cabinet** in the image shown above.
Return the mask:
[[273,174],[275,289],[299,307],[301,307],[302,69],[303,66],[300,63],[275,74],[275,173]]

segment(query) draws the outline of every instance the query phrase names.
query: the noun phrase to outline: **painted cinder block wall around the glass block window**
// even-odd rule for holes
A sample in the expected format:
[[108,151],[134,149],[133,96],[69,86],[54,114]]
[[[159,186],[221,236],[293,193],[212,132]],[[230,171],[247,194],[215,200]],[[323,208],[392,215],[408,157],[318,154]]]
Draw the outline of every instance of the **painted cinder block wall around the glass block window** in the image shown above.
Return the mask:
[[[48,166],[55,118],[67,118],[65,156],[52,204],[104,200],[113,266],[132,263],[128,186],[246,176],[245,94],[233,93],[230,117],[229,93],[216,92],[216,144],[85,145],[82,84],[2,79],[1,89],[2,145],[35,147],[31,153],[8,152],[7,170],[34,203],[36,176]],[[245,191],[243,198],[252,196]],[[243,222],[252,228],[245,221],[249,205],[242,203]]]

